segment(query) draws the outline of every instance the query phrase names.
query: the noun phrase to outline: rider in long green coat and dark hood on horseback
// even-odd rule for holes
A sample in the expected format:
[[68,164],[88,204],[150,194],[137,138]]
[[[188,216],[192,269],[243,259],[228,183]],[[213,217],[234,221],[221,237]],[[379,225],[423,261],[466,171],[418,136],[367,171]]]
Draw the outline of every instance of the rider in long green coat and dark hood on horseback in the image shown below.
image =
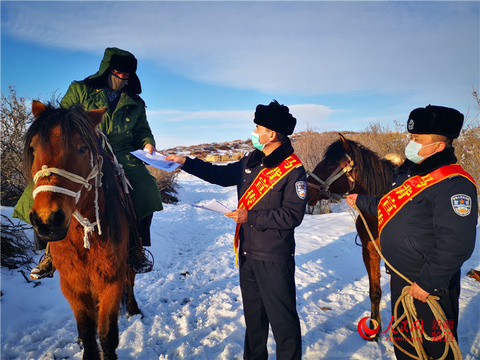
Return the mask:
[[[156,179],[141,160],[130,154],[137,149],[146,149],[150,153],[156,151],[155,140],[147,122],[145,103],[139,96],[142,89],[136,70],[137,59],[133,54],[118,48],[107,48],[98,72],[82,81],[74,81],[60,105],[64,108],[81,105],[85,111],[108,108],[99,128],[107,136],[133,187],[130,194],[142,244],[150,246],[153,213],[163,207]],[[28,220],[30,199],[31,194],[30,198],[27,194],[22,196],[14,216]],[[142,249],[134,244],[130,247],[129,262],[133,270],[137,273],[150,271],[153,264],[145,257]],[[50,276],[51,269],[51,257],[47,255],[32,270],[31,277],[38,279]]]

